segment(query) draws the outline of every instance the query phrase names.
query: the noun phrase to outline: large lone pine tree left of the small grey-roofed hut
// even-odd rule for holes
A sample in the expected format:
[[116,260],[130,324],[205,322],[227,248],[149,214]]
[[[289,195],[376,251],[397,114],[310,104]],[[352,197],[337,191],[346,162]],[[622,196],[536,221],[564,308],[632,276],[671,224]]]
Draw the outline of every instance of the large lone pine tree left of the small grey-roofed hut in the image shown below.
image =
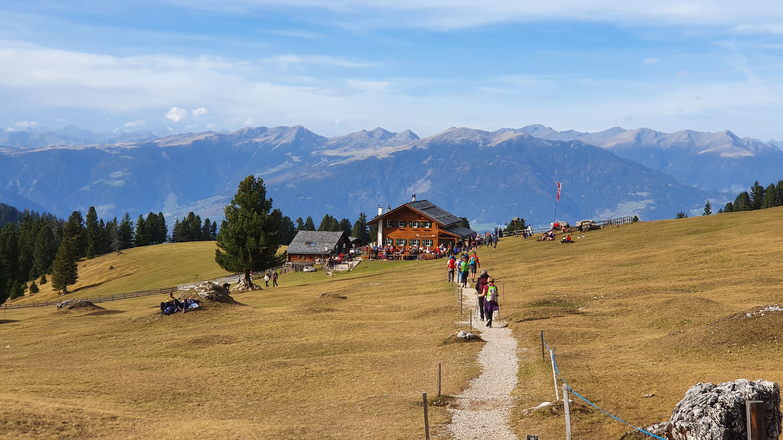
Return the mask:
[[272,210],[272,199],[266,199],[261,177],[247,176],[240,182],[231,203],[224,210],[218,232],[215,262],[230,272],[242,272],[250,283],[250,272],[262,272],[282,263],[279,209]]

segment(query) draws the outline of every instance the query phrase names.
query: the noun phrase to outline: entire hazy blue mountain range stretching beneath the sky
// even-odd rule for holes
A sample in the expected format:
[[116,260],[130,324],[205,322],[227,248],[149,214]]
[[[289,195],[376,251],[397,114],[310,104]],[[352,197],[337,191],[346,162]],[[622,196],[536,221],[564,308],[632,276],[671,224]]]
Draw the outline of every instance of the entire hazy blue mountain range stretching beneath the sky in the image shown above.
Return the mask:
[[[78,129],[68,132],[70,141],[78,139]],[[355,219],[360,211],[372,217],[376,206],[396,206],[417,194],[489,227],[513,216],[549,223],[554,181],[561,181],[561,220],[634,214],[655,220],[695,213],[707,199],[733,199],[720,190],[746,188],[756,178],[777,181],[783,157],[774,145],[729,131],[619,127],[597,133],[543,125],[451,127],[427,138],[381,127],[327,138],[301,126],[148,136],[154,138],[0,146],[6,171],[0,202],[61,216],[94,205],[104,217],[193,210],[214,219],[238,182],[254,174],[292,218],[317,221],[330,213]],[[36,142],[49,143],[44,137]],[[687,171],[696,165],[705,170]]]

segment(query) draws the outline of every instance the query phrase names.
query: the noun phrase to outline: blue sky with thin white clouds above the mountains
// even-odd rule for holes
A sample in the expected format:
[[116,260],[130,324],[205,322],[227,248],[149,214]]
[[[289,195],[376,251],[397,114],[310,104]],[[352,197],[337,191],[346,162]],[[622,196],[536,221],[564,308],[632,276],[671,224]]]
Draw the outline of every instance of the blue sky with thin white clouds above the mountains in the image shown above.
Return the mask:
[[0,4],[0,127],[783,138],[780,2],[106,3]]

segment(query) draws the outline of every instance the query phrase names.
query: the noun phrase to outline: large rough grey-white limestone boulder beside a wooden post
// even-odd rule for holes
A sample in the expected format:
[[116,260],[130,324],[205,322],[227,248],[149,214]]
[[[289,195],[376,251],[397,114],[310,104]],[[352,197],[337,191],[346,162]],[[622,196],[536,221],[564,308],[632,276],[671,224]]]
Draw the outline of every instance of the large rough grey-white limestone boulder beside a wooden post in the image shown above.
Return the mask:
[[760,440],[778,440],[781,435],[781,395],[770,381],[738,379],[714,385],[701,382],[687,390],[669,420],[672,440],[745,440],[745,401],[761,400],[767,412],[767,435]]

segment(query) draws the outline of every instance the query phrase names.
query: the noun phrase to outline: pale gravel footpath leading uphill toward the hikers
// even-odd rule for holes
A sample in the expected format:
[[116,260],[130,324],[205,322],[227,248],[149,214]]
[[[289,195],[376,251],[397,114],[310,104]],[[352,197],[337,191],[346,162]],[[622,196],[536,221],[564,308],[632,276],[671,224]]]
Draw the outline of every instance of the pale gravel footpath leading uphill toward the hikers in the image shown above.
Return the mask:
[[[465,303],[476,302],[475,289],[466,288],[463,292]],[[459,406],[449,410],[452,418],[447,429],[457,440],[516,440],[508,420],[511,391],[517,386],[517,340],[503,322],[493,321],[491,328],[480,320],[474,319],[473,323],[486,341],[478,353],[482,373],[471,379],[470,388],[464,394],[456,396]]]

